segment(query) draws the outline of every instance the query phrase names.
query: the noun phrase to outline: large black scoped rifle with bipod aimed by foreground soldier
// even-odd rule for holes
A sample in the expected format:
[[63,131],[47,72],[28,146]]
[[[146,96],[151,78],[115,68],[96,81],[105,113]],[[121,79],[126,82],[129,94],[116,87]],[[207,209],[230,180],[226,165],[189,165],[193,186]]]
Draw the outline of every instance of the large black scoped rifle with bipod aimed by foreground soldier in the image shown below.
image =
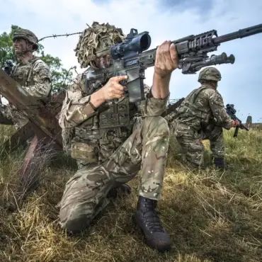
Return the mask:
[[[199,35],[188,35],[185,38],[174,40],[172,42],[176,45],[179,59],[178,69],[182,69],[182,74],[195,74],[202,67],[215,64],[234,64],[234,55],[228,57],[225,52],[222,52],[221,55],[208,57],[207,53],[216,51],[222,42],[258,33],[262,33],[262,24],[219,37],[217,30],[210,30]],[[108,45],[108,41],[104,40],[104,42]],[[150,45],[149,32],[138,34],[137,29],[132,28],[123,42],[108,47],[113,58],[113,64],[109,68],[87,72],[86,86],[97,80],[106,83],[113,76],[127,75],[127,80],[120,83],[127,86],[125,96],[129,96],[131,103],[144,100],[144,71],[148,67],[153,67],[156,59],[157,47],[148,50]]]

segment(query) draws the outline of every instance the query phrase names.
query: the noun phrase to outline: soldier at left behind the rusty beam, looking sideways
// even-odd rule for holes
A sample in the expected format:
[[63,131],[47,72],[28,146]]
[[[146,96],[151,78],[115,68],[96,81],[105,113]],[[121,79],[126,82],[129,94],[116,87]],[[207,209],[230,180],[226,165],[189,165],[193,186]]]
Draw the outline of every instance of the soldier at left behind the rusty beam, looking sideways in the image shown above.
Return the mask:
[[[38,50],[38,38],[27,29],[19,29],[13,34],[13,47],[18,64],[11,69],[11,77],[34,98],[47,101],[51,92],[51,74],[47,64],[35,57],[33,52]],[[1,105],[1,113],[14,123],[16,129],[28,122],[21,111],[10,103]]]

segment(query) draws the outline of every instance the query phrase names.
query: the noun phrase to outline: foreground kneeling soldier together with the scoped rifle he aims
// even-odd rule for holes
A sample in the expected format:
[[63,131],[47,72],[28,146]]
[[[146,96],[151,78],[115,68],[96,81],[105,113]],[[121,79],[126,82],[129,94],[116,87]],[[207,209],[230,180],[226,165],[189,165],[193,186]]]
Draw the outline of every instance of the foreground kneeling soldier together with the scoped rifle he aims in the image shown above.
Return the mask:
[[[217,50],[221,42],[256,33],[262,33],[262,25],[217,38],[212,30],[146,51],[151,43],[148,32],[138,34],[132,29],[125,37],[119,28],[96,22],[84,30],[76,56],[81,67],[88,68],[67,91],[59,116],[68,153],[79,166],[59,204],[62,228],[78,233],[88,227],[110,203],[112,190],[128,192],[125,183],[141,169],[133,220],[150,247],[170,249],[156,205],[169,137],[160,115],[169,98],[171,73],[178,68],[183,74],[195,74],[211,64],[234,63],[233,55],[208,57],[207,53]],[[153,85],[145,92],[144,71],[153,66]]]

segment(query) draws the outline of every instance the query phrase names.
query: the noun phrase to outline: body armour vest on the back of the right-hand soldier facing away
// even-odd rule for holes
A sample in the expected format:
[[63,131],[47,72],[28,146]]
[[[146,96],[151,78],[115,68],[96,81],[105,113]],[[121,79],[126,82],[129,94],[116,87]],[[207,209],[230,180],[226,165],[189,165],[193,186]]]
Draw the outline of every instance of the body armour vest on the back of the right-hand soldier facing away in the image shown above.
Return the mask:
[[178,108],[177,121],[179,118],[199,118],[202,125],[207,125],[210,120],[211,109],[201,105],[200,103],[195,103],[196,98],[200,95],[200,92],[210,89],[209,86],[200,86],[198,89],[194,89],[186,99],[181,103],[180,108]]

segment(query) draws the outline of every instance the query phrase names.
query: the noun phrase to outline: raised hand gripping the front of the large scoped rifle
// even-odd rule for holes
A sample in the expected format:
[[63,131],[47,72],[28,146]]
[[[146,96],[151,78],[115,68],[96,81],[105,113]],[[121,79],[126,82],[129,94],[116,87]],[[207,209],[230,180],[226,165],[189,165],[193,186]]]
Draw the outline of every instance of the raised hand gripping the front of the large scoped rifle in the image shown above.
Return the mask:
[[165,41],[157,47],[154,73],[165,77],[169,76],[176,68],[178,68],[176,45],[171,41]]

